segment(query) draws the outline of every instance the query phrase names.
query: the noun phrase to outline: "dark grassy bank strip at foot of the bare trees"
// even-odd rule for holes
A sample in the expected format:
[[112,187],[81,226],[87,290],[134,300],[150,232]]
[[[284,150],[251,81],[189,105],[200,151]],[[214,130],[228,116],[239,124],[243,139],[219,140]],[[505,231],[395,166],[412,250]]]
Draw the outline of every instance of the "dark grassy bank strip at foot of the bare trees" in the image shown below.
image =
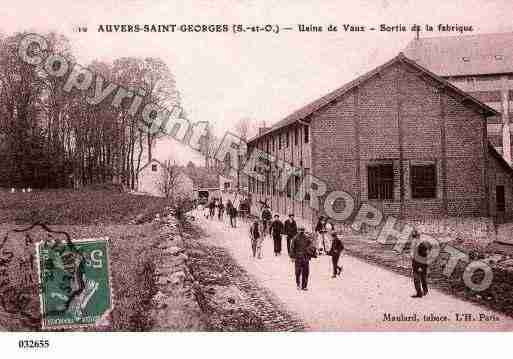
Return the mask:
[[107,190],[0,192],[0,223],[127,224],[152,218],[167,205],[166,198]]

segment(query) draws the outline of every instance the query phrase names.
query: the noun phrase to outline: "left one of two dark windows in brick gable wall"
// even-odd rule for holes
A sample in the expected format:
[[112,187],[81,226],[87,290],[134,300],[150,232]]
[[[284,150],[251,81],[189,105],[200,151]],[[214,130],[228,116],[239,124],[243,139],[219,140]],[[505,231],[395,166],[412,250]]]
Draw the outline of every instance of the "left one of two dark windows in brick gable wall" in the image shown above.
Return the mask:
[[369,199],[394,199],[394,166],[391,163],[367,167]]

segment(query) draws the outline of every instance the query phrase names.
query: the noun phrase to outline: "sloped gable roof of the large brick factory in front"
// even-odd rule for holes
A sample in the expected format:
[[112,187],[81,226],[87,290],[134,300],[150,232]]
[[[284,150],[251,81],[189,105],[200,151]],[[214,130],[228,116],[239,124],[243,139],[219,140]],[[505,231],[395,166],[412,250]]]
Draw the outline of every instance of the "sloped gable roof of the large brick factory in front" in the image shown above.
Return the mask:
[[352,90],[353,88],[360,86],[362,83],[366,82],[367,80],[369,80],[370,78],[372,78],[373,76],[378,74],[379,72],[383,71],[384,69],[388,68],[389,66],[391,66],[397,62],[406,63],[406,64],[416,68],[418,71],[424,73],[425,75],[431,77],[433,80],[438,82],[441,86],[446,87],[447,89],[451,90],[452,92],[459,94],[460,96],[471,101],[478,107],[482,108],[488,116],[497,116],[498,115],[498,112],[495,111],[493,108],[485,105],[484,103],[482,103],[475,97],[472,97],[468,93],[463,92],[462,90],[460,90],[456,86],[452,85],[448,81],[444,80],[440,76],[437,76],[436,74],[429,71],[428,69],[420,66],[415,61],[407,58],[401,52],[401,53],[399,53],[399,55],[397,55],[390,61],[384,63],[383,65],[376,67],[374,70],[371,70],[371,71],[367,72],[366,74],[363,74],[362,76],[356,78],[355,80],[353,80],[351,82],[348,82],[347,84],[336,89],[335,91],[332,91],[332,92],[328,93],[327,95],[319,98],[318,100],[315,100],[315,101],[309,103],[308,105],[300,108],[299,110],[293,112],[289,116],[285,117],[283,120],[275,123],[268,131],[265,131],[262,134],[259,134],[255,137],[253,137],[252,139],[250,139],[248,141],[248,143],[251,143],[251,142],[255,141],[256,139],[258,139],[262,136],[265,136],[266,134],[274,132],[280,128],[289,126],[295,122],[307,120],[307,117],[310,116],[311,114],[313,114],[314,112],[322,109],[324,106],[326,106],[326,105],[330,104],[331,102],[333,102],[334,100],[340,98],[341,96],[343,96],[344,94],[346,94],[347,92]]

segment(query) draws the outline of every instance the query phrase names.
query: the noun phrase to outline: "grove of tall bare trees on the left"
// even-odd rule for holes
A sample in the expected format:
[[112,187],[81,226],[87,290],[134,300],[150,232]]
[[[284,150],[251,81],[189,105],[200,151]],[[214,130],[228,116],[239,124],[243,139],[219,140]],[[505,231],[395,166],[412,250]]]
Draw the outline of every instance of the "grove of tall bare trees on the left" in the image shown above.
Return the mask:
[[[64,91],[68,74],[51,76],[44,64],[33,66],[18,55],[26,33],[0,34],[0,186],[62,187],[114,182],[134,188],[143,158],[152,158],[158,134],[140,129],[146,104],[179,106],[180,96],[169,67],[158,58],[124,57],[112,63],[92,61],[93,86]],[[69,40],[43,34],[48,53],[76,63]],[[54,64],[54,66],[59,66]],[[55,68],[54,70],[58,70]],[[116,91],[98,104],[86,101],[98,76],[142,97],[138,111],[131,100],[113,107]]]

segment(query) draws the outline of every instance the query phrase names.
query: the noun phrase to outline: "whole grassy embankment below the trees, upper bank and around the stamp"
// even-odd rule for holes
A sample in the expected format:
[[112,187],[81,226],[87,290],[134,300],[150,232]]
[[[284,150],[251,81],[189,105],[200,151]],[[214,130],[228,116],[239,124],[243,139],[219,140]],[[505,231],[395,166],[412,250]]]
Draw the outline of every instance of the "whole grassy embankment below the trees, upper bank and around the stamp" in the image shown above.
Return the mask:
[[[157,253],[152,245],[159,240],[159,228],[151,223],[130,223],[135,218],[138,223],[148,222],[156,213],[163,213],[168,204],[163,198],[113,191],[0,192],[0,236],[3,238],[8,230],[35,222],[66,231],[73,239],[108,236],[115,297],[110,329],[147,330],[151,323],[145,313],[156,291],[153,268]],[[35,251],[33,247],[16,247],[23,251]],[[15,265],[16,259],[26,256],[27,253],[15,253],[12,265]],[[14,287],[26,285],[26,278],[11,273],[10,284]],[[30,280],[37,283],[35,271],[30,274]],[[4,299],[9,299],[7,292],[0,294]],[[32,294],[32,297],[38,303],[37,296]],[[31,307],[37,316],[38,305]],[[2,311],[0,307],[0,328],[37,328],[37,323],[34,327],[28,326],[18,316],[7,315]]]

